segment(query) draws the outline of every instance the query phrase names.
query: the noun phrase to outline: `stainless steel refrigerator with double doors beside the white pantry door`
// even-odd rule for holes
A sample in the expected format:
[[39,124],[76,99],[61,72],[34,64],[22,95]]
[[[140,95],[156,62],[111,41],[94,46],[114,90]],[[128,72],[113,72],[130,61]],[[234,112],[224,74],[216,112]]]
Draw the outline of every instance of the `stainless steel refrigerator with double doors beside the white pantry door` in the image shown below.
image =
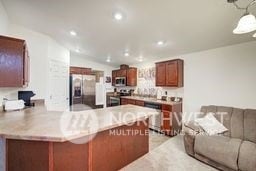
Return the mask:
[[70,106],[73,110],[95,109],[96,77],[94,75],[70,76]]

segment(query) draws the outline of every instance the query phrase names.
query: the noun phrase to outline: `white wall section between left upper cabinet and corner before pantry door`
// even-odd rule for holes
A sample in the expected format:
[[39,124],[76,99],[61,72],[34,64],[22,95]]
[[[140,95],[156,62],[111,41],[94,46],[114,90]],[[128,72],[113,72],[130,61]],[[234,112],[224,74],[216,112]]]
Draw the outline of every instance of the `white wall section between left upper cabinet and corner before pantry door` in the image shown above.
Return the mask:
[[27,42],[30,57],[30,82],[25,90],[34,91],[35,99],[46,98],[48,37],[24,27],[10,24],[9,36]]

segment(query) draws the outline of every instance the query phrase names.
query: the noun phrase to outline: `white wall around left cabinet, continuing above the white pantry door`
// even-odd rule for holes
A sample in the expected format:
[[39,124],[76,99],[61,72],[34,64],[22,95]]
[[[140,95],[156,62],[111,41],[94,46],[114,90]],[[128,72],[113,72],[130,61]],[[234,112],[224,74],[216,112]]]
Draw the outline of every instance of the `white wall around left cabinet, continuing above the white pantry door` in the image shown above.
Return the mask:
[[49,99],[49,60],[54,58],[69,65],[69,50],[47,35],[15,24],[9,25],[6,35],[26,40],[30,57],[30,82],[25,89],[0,88],[0,104],[3,97],[17,99],[18,90],[34,91],[36,96],[33,99]]

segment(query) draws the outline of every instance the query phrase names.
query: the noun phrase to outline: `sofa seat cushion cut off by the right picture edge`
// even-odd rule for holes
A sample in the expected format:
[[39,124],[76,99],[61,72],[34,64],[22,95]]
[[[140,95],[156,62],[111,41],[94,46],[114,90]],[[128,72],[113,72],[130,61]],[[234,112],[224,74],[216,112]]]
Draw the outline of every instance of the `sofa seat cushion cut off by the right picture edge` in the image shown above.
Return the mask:
[[243,171],[256,170],[256,144],[244,141],[240,147],[238,167]]

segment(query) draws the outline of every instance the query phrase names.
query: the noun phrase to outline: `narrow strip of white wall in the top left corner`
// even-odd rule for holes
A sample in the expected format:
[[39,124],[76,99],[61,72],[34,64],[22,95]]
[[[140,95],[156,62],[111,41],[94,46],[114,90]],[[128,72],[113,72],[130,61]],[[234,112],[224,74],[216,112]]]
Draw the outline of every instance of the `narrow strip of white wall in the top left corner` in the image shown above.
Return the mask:
[[0,35],[7,34],[8,25],[9,25],[8,15],[2,4],[2,1],[0,0]]

